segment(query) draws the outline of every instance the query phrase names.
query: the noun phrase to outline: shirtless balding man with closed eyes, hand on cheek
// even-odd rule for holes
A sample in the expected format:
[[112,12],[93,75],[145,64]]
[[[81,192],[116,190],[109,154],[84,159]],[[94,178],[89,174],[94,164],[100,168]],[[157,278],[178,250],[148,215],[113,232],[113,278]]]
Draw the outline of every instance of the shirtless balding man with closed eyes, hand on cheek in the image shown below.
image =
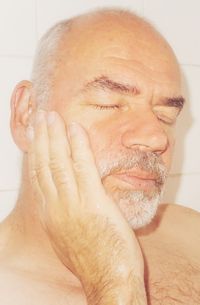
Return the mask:
[[184,104],[175,55],[132,13],[42,39],[12,96],[22,185],[1,224],[1,304],[200,304],[200,217],[158,204]]

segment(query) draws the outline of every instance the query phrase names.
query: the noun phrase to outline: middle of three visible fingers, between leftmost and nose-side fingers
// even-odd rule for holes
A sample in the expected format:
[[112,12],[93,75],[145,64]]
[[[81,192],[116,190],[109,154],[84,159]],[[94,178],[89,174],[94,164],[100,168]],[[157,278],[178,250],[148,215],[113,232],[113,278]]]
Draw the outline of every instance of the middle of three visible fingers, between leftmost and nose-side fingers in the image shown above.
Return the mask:
[[78,199],[70,147],[64,122],[58,113],[48,113],[49,165],[58,194],[65,196],[68,204]]

